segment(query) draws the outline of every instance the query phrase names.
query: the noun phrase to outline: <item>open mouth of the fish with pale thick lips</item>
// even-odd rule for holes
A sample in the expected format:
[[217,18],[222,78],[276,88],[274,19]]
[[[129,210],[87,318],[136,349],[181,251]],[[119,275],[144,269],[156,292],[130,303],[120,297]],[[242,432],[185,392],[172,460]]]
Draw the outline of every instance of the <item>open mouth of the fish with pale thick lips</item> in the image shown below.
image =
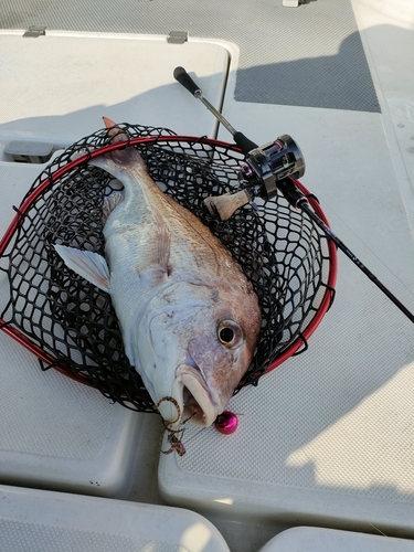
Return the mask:
[[220,412],[197,367],[180,364],[176,370],[173,388],[173,396],[181,406],[181,422],[191,421],[204,427],[213,424]]

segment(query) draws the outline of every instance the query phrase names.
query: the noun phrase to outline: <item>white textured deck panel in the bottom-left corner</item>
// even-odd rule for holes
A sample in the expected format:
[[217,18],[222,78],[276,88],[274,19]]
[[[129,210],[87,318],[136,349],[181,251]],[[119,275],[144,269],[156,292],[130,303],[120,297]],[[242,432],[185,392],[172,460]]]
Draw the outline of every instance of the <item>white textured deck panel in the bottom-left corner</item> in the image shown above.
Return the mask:
[[2,552],[230,552],[188,510],[3,485],[0,541]]

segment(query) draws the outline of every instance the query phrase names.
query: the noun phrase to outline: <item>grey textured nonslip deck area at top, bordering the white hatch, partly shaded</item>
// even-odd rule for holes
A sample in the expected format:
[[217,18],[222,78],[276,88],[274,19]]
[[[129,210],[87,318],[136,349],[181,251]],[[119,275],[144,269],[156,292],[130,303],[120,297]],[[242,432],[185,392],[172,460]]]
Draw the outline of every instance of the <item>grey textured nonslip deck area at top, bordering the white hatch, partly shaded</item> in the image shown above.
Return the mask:
[[0,28],[41,24],[166,35],[177,30],[227,40],[240,47],[238,102],[380,112],[350,0],[305,0],[298,8],[284,8],[282,0],[0,3]]

